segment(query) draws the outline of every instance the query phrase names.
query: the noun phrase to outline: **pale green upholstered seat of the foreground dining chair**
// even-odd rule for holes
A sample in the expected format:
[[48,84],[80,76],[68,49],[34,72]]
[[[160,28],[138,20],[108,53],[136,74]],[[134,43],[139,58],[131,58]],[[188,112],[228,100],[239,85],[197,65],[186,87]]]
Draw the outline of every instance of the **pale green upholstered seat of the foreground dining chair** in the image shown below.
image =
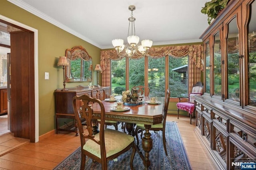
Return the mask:
[[[105,135],[105,148],[106,148],[106,157],[116,154],[126,148],[131,142],[134,141],[134,137],[125,134],[123,132],[120,132],[118,130],[108,129],[106,128],[104,130]],[[97,133],[94,135],[96,140],[100,140],[100,133]],[[100,156],[100,145],[96,144],[92,140],[86,141],[86,143],[83,146],[84,150],[87,150],[91,154],[94,154],[95,156]]]

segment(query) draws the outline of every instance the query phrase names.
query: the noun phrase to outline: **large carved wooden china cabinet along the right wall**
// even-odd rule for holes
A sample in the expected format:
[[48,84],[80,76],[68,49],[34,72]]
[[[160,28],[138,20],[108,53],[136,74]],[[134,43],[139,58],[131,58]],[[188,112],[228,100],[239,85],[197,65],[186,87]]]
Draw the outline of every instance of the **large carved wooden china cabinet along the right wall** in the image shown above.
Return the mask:
[[196,134],[218,169],[256,162],[256,0],[230,0],[200,36],[204,95]]

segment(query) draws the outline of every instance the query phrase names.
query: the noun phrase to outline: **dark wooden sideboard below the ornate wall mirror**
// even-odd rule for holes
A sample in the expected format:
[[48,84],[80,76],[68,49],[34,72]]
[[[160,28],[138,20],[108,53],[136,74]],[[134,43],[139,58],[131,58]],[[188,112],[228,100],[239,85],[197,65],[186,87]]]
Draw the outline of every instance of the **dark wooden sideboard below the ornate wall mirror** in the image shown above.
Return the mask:
[[[59,131],[68,131],[75,132],[76,136],[78,135],[78,127],[75,120],[75,115],[73,111],[72,101],[73,97],[81,96],[87,94],[91,97],[96,97],[97,93],[94,88],[78,86],[72,88],[66,88],[66,91],[62,91],[62,89],[55,90],[55,118],[56,118],[56,133]],[[110,87],[100,87],[100,93],[104,94],[104,99],[110,97]],[[82,106],[82,102],[76,103],[79,107]],[[74,124],[72,126],[68,126],[66,128],[60,128],[58,119],[66,118],[66,119],[74,119]],[[81,120],[83,121],[83,120]]]

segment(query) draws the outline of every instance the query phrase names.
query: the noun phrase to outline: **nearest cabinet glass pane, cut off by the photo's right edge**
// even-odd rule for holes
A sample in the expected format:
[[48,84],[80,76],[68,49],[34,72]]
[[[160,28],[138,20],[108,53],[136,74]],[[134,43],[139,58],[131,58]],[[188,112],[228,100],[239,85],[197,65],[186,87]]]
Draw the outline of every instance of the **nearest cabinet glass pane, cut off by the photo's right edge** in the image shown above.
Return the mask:
[[251,17],[248,25],[248,82],[249,105],[256,106],[256,1],[251,4]]

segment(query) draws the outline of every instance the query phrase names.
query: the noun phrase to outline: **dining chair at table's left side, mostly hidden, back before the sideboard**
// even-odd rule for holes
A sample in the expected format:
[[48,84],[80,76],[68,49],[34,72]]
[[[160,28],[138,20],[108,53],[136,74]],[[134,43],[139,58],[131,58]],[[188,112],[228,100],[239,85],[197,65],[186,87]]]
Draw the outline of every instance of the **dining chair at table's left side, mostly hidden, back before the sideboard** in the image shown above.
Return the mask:
[[[100,99],[101,101],[106,99],[106,94],[104,89],[100,88],[100,87],[94,87],[91,91],[91,97],[96,98],[96,99]],[[98,123],[100,123],[100,120],[98,120]],[[114,126],[116,130],[118,130],[118,124],[120,122],[117,121],[105,121],[105,128],[107,128],[107,126]]]

